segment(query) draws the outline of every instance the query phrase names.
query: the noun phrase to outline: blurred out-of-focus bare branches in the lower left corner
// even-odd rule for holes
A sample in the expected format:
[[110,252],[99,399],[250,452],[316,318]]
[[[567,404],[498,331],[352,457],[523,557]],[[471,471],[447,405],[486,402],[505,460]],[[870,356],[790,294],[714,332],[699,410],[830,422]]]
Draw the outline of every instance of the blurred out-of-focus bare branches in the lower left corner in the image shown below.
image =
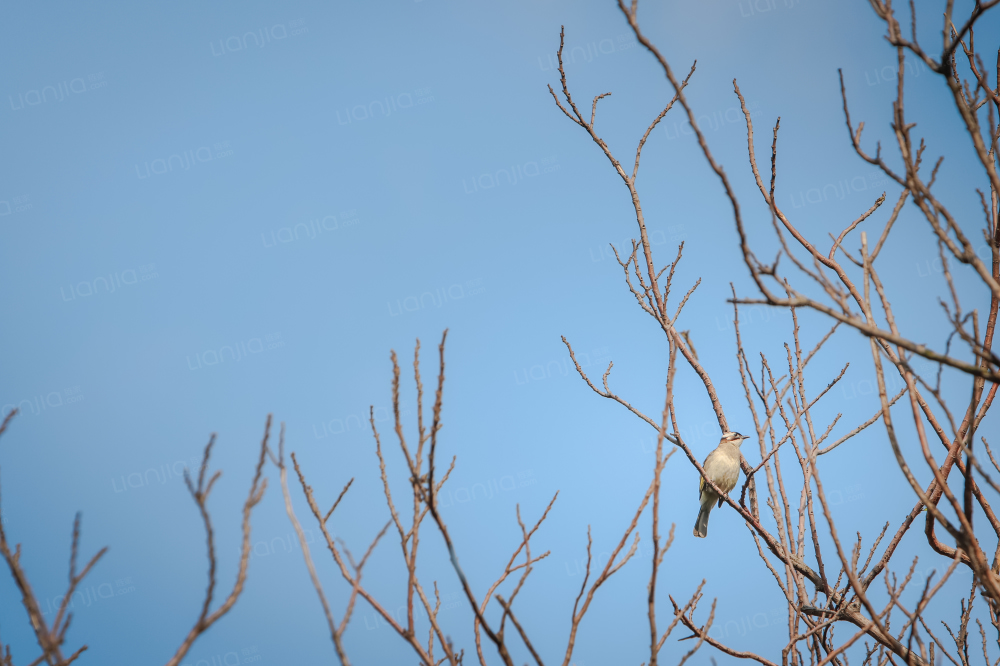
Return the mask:
[[[0,435],[3,435],[16,413],[17,410],[12,409],[4,418],[3,423],[0,424]],[[208,589],[205,592],[205,600],[202,604],[201,613],[198,616],[198,619],[195,621],[191,631],[189,631],[187,636],[184,638],[180,647],[177,648],[177,652],[167,662],[167,666],[177,666],[177,664],[180,664],[181,660],[184,659],[184,656],[191,649],[191,646],[198,639],[198,637],[208,631],[208,629],[215,624],[215,622],[228,613],[229,610],[236,604],[237,599],[239,599],[240,594],[243,592],[243,585],[246,582],[247,576],[247,566],[250,562],[250,515],[253,512],[253,508],[263,498],[264,490],[267,487],[267,480],[261,478],[261,471],[264,468],[264,454],[267,450],[267,439],[270,430],[271,417],[268,415],[267,425],[264,428],[264,439],[261,442],[260,458],[257,462],[256,473],[254,474],[253,482],[250,485],[249,496],[243,505],[243,542],[240,552],[239,571],[236,576],[236,582],[225,601],[223,601],[223,603],[214,611],[211,610],[211,605],[216,584],[215,533],[212,529],[212,521],[208,513],[208,496],[209,493],[211,493],[215,482],[218,481],[219,477],[222,475],[222,472],[216,471],[211,475],[207,483],[205,481],[205,476],[208,472],[209,455],[211,455],[212,446],[215,444],[214,434],[205,446],[205,453],[202,458],[201,467],[198,470],[197,485],[192,483],[188,471],[186,469],[184,470],[184,481],[187,484],[188,491],[191,493],[191,497],[194,498],[195,504],[198,506],[198,511],[201,513],[202,521],[205,524],[205,532],[208,541]],[[91,569],[94,568],[98,560],[101,559],[108,549],[107,547],[101,548],[96,555],[90,558],[90,561],[87,562],[86,566],[84,566],[81,571],[77,572],[76,563],[79,543],[80,514],[77,514],[76,519],[73,521],[73,541],[69,560],[69,586],[66,590],[66,594],[62,598],[62,603],[59,605],[59,610],[56,612],[56,617],[53,620],[52,625],[49,626],[48,622],[45,620],[44,614],[42,613],[41,606],[38,603],[38,598],[35,596],[35,593],[31,588],[31,583],[28,581],[28,577],[24,573],[24,568],[21,565],[21,545],[17,544],[14,547],[14,551],[11,552],[10,544],[7,541],[7,534],[4,530],[3,521],[0,520],[0,556],[3,556],[4,561],[7,563],[7,567],[10,569],[11,576],[14,578],[14,582],[21,591],[21,602],[24,605],[25,611],[28,613],[28,621],[31,623],[31,628],[34,630],[35,638],[38,640],[38,646],[41,648],[41,654],[36,657],[34,661],[30,662],[30,666],[37,666],[37,664],[41,663],[46,663],[49,666],[68,666],[68,664],[75,661],[76,658],[87,649],[87,646],[83,645],[77,648],[77,650],[69,656],[65,656],[63,653],[63,644],[66,642],[66,632],[73,619],[73,613],[69,611],[69,608],[73,600],[73,593],[77,586],[81,581],[83,581],[87,574],[90,573]],[[11,655],[10,646],[4,646],[3,643],[0,642],[0,666],[13,666],[13,664],[14,661],[13,656]]]

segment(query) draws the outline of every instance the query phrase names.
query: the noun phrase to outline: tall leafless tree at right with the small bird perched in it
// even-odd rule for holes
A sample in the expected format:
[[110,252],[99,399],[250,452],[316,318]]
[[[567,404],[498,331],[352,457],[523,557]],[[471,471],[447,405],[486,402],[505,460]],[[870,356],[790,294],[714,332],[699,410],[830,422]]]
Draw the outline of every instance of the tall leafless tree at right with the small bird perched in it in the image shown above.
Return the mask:
[[[844,91],[843,83],[841,83],[844,113],[850,140],[858,155],[868,163],[878,166],[900,187],[901,192],[893,211],[885,221],[877,243],[874,247],[870,247],[867,234],[862,231],[860,233],[860,250],[856,253],[846,249],[843,243],[854,229],[873,216],[884,203],[885,194],[883,193],[857,219],[847,224],[839,237],[832,239],[833,243],[828,253],[818,250],[814,242],[805,238],[776,202],[777,139],[780,119],[775,124],[773,131],[771,179],[770,183],[766,184],[757,167],[750,114],[739,87],[735,81],[733,82],[735,94],[740,100],[746,118],[751,172],[764,204],[770,210],[773,230],[782,248],[778,258],[772,264],[762,263],[756,258],[751,248],[750,235],[744,225],[735,191],[724,169],[713,157],[704,134],[698,128],[696,115],[685,98],[684,89],[694,72],[694,67],[692,66],[691,72],[683,80],[674,74],[663,55],[642,33],[637,18],[637,3],[632,2],[630,6],[626,6],[622,0],[618,0],[619,8],[628,20],[636,38],[660,64],[674,95],[639,141],[631,175],[626,173],[607,143],[601,139],[595,129],[597,103],[610,93],[594,97],[588,120],[578,108],[568,88],[562,63],[562,37],[560,37],[559,73],[562,100],[551,87],[550,93],[563,113],[588,133],[612,163],[615,171],[625,183],[635,209],[639,240],[632,242],[631,253],[624,256],[624,259],[618,255],[616,250],[616,256],[618,256],[619,264],[624,271],[627,285],[642,309],[657,321],[666,334],[671,359],[675,358],[676,352],[679,351],[687,364],[701,379],[722,431],[729,430],[729,427],[712,380],[703,366],[699,364],[689,335],[676,328],[681,309],[698,284],[696,283],[687,292],[676,311],[671,314],[667,308],[667,298],[670,294],[677,263],[681,258],[683,245],[678,249],[677,258],[673,263],[657,270],[636,189],[636,176],[643,145],[653,128],[676,103],[679,103],[686,113],[700,149],[709,166],[719,177],[731,204],[741,253],[750,271],[754,287],[759,294],[757,297],[741,298],[738,297],[734,288],[731,302],[734,306],[736,358],[747,405],[753,416],[757,439],[760,442],[761,462],[751,467],[744,460],[743,470],[747,479],[741,488],[739,500],[736,501],[728,497],[724,499],[746,521],[748,532],[755,542],[762,563],[774,578],[787,601],[789,641],[781,650],[780,661],[782,664],[805,663],[807,658],[812,664],[840,663],[842,659],[846,659],[845,650],[864,637],[870,638],[874,642],[873,647],[866,651],[866,663],[874,657],[876,652],[879,664],[892,661],[894,657],[904,659],[911,665],[934,663],[935,650],[944,653],[955,663],[958,663],[959,660],[967,663],[967,627],[977,587],[982,588],[986,597],[989,616],[997,629],[998,641],[1000,641],[1000,623],[997,621],[998,610],[1000,610],[997,605],[997,600],[1000,599],[1000,578],[998,578],[1000,546],[997,545],[998,538],[1000,538],[1000,521],[994,515],[993,509],[973,473],[973,469],[975,469],[990,488],[994,491],[1000,491],[1000,488],[993,483],[973,453],[976,429],[991,406],[996,394],[997,383],[1000,382],[1000,370],[998,370],[1000,369],[1000,358],[992,351],[997,305],[1000,302],[1000,288],[998,288],[1000,287],[1000,272],[998,272],[998,267],[1000,267],[1000,259],[998,259],[1000,229],[998,229],[997,224],[1000,179],[997,177],[996,162],[996,146],[1000,129],[997,127],[997,116],[995,115],[995,112],[1000,111],[1000,79],[997,80],[996,87],[990,87],[986,68],[974,48],[973,33],[977,19],[996,4],[996,1],[977,3],[965,23],[961,27],[956,27],[952,22],[952,3],[949,2],[942,30],[942,52],[939,59],[934,60],[924,52],[917,42],[916,10],[913,3],[910,4],[912,36],[910,39],[906,39],[903,37],[902,29],[891,3],[872,0],[876,14],[886,23],[887,41],[896,49],[899,60],[897,99],[893,103],[892,128],[897,139],[902,169],[890,167],[882,157],[880,147],[876,149],[874,156],[862,148],[863,123],[859,124],[856,129],[852,125],[848,113],[847,94]],[[959,46],[961,46],[968,61],[971,80],[963,80],[958,72],[956,51]],[[986,172],[989,195],[984,195],[981,190],[977,190],[977,192],[986,218],[983,238],[992,254],[992,266],[990,267],[987,267],[976,255],[973,243],[963,230],[962,225],[949,212],[945,204],[931,192],[935,176],[941,166],[941,159],[937,160],[929,178],[925,179],[920,173],[925,143],[921,140],[919,146],[913,145],[911,138],[913,124],[908,123],[904,113],[903,81],[905,68],[903,60],[906,51],[916,54],[928,67],[945,78],[950,95],[964,123],[964,129],[971,139],[976,163]],[[1000,51],[998,51],[998,66],[1000,66]],[[998,71],[998,76],[1000,76],[1000,71]],[[983,112],[983,107],[986,107],[985,112]],[[986,116],[985,122],[984,115]],[[904,203],[910,197],[931,225],[937,238],[938,251],[944,266],[944,278],[951,295],[950,303],[940,303],[944,316],[952,329],[952,333],[944,341],[943,351],[935,350],[923,342],[918,342],[914,339],[915,336],[907,335],[899,329],[893,316],[891,300],[875,268],[875,260]],[[795,269],[793,276],[786,276],[784,272],[779,271],[779,259],[782,256],[787,257],[793,264]],[[841,264],[838,260],[839,256],[846,257],[850,263]],[[969,266],[972,273],[979,278],[990,303],[985,327],[981,326],[977,310],[963,311],[949,268],[949,259]],[[664,284],[661,282],[661,278],[663,272],[668,268],[669,273]],[[801,276],[811,280],[809,288],[793,286],[793,277],[800,279]],[[877,297],[872,294],[873,287]],[[810,295],[811,291],[817,292],[817,295]],[[772,369],[767,357],[760,354],[761,362],[759,375],[757,375],[759,379],[755,378],[754,369],[751,368],[740,339],[739,306],[746,304],[783,307],[787,308],[791,314],[792,344],[785,345],[784,367]],[[798,311],[803,308],[822,313],[832,320],[829,332],[824,335],[818,333],[814,335],[816,342],[811,349],[804,347],[800,339]],[[880,321],[884,324],[880,324]],[[809,361],[830,340],[841,325],[855,329],[867,336],[870,341],[872,361],[878,377],[880,404],[878,411],[872,418],[851,429],[832,444],[826,444],[840,416],[838,415],[822,433],[819,433],[813,423],[812,410],[830,388],[843,378],[847,368],[845,365],[844,370],[841,370],[836,377],[831,378],[826,387],[815,396],[807,394],[805,370]],[[968,347],[969,354],[972,356],[971,361],[963,359],[961,355],[951,350],[952,342],[956,338]],[[568,342],[567,346],[569,346]],[[570,353],[572,355],[572,349],[570,349]],[[892,364],[905,383],[905,388],[896,396],[890,396],[887,392],[886,367],[883,363],[883,357]],[[926,363],[922,363],[924,359],[927,361]],[[588,385],[599,395],[621,403],[647,423],[657,427],[652,419],[641,414],[629,402],[612,392],[608,386],[610,365],[604,375],[603,389],[594,386],[583,373],[579,364],[576,367]],[[925,367],[929,369],[925,370]],[[942,389],[941,379],[945,369],[951,373],[957,373],[958,377],[966,377],[970,383],[971,395],[966,394],[969,396],[968,398],[958,398],[965,413],[957,422],[953,416],[953,408],[949,406],[947,396]],[[671,364],[668,372],[672,370]],[[931,376],[934,376],[933,380],[929,379]],[[992,383],[989,391],[984,390],[987,381]],[[904,453],[897,436],[897,429],[893,425],[891,407],[904,395],[908,397],[909,418],[912,419],[919,440],[919,457],[922,458],[923,464],[928,466],[934,477],[926,488],[917,481],[911,467],[914,464],[913,453]],[[927,396],[930,398],[928,399]],[[954,398],[952,402],[954,402]],[[705,478],[706,483],[711,484],[710,479],[705,476],[704,470],[692,454],[690,447],[679,434],[680,428],[677,427],[669,398],[668,411],[670,411],[671,423],[674,428],[670,434],[666,435],[667,439],[684,451],[699,474]],[[943,423],[943,419],[947,420],[946,425]],[[874,540],[864,564],[858,568],[860,558],[863,555],[861,536],[858,535],[858,541],[850,551],[838,538],[829,503],[823,492],[818,462],[821,455],[841,446],[845,441],[879,420],[885,426],[888,443],[909,486],[917,496],[917,502],[913,509],[903,517],[902,524],[889,540],[874,566],[869,570],[868,567],[888,530],[889,523],[886,523],[882,533]],[[932,431],[931,435],[927,433],[928,428]],[[941,463],[935,459],[931,445],[928,443],[928,437],[935,436],[944,447],[944,461]],[[1000,471],[985,438],[982,438],[982,443],[990,462],[995,469]],[[778,455],[778,451],[786,444],[791,445],[797,469],[793,467],[792,470],[789,470],[786,467],[783,470],[781,467],[782,456]],[[907,455],[909,455],[910,460],[907,459]],[[953,467],[958,467],[961,480],[949,483],[949,475]],[[761,517],[755,493],[755,475],[761,469],[764,470],[768,488],[767,506],[770,508],[771,514],[768,520]],[[747,503],[748,489],[749,504]],[[795,494],[798,495],[798,501],[797,507],[793,508],[792,505],[796,503]],[[944,504],[940,504],[942,498],[946,500]],[[911,608],[903,605],[901,595],[911,583],[916,560],[909,567],[909,573],[902,582],[898,582],[895,578],[890,579],[887,574],[884,582],[888,601],[884,606],[876,607],[869,588],[881,573],[887,571],[886,567],[896,554],[903,535],[923,511],[927,512],[925,534],[928,543],[937,553],[946,558],[947,570],[933,584],[930,577],[923,583],[923,589],[917,603]],[[816,518],[816,514],[819,512],[823,514],[825,526]],[[987,519],[992,530],[988,539],[997,548],[994,551],[992,562],[980,543],[980,539],[984,536],[982,531],[977,535],[973,530],[973,516],[976,513]],[[940,524],[949,537],[954,540],[954,547],[942,543],[937,538],[935,534],[935,525],[937,524]],[[836,559],[832,560],[835,564],[830,571],[827,570],[831,561],[829,557],[826,563],[824,562],[821,547],[824,538],[821,538],[821,533],[825,533],[824,538],[829,536],[835,550]],[[963,602],[959,634],[957,637],[953,636],[955,648],[949,651],[948,647],[932,633],[924,620],[924,612],[930,600],[942,588],[959,564],[963,564],[971,570],[974,582],[972,591]],[[837,572],[835,582],[830,575],[833,571]],[[841,587],[842,582],[844,582],[843,587]],[[904,619],[901,627],[890,631],[890,616],[896,609],[903,614]],[[708,637],[706,632],[698,627],[693,613],[684,614],[682,618],[685,626],[705,638],[713,647],[727,654],[754,659],[765,664],[774,663],[760,655],[739,652]],[[650,621],[652,624],[652,615]],[[855,632],[846,641],[835,642],[833,640],[833,627],[839,622],[853,624]],[[981,627],[980,630],[982,632]],[[951,630],[948,629],[948,631]],[[985,633],[982,633],[982,638],[984,658],[989,663]],[[776,654],[774,661],[777,660]]]

